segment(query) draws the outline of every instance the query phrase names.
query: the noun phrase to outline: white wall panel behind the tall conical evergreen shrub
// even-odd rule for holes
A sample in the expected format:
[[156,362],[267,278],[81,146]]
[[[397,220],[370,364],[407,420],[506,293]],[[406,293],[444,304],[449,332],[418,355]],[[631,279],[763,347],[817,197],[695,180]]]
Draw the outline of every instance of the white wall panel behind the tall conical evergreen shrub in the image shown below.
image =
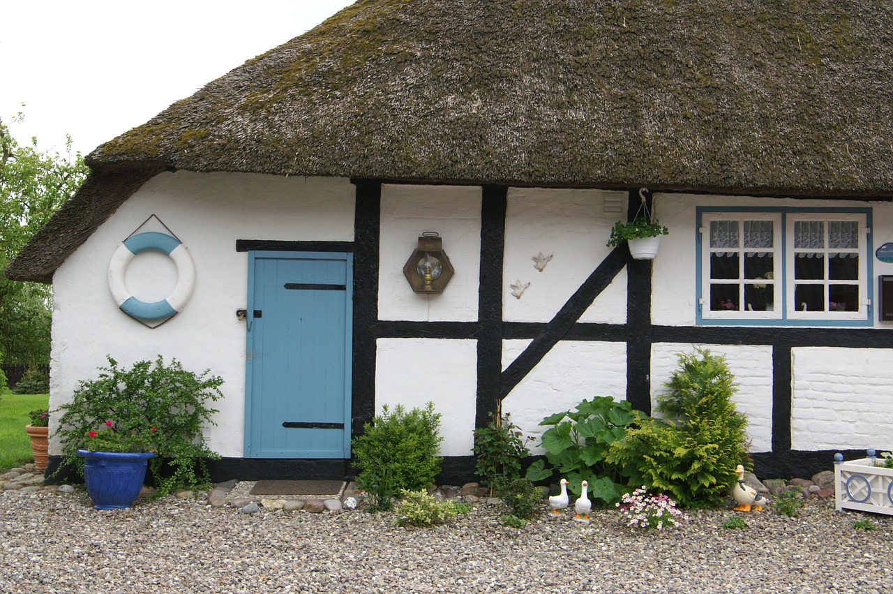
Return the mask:
[[679,367],[679,353],[702,347],[726,357],[735,375],[738,392],[732,402],[747,415],[747,436],[752,452],[772,451],[772,347],[760,345],[688,345],[655,343],[651,346],[651,409],[657,414],[657,395],[665,394],[663,384]]

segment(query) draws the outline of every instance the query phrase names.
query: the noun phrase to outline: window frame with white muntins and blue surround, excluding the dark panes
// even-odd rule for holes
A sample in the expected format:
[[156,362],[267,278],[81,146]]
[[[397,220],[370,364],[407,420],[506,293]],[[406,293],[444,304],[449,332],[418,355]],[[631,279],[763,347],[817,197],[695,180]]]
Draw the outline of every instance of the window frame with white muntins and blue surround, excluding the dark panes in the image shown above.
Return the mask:
[[[699,294],[697,295],[697,321],[707,324],[729,325],[871,325],[872,324],[872,240],[871,240],[871,209],[867,208],[728,208],[709,206],[698,207],[699,241],[698,256],[700,258],[700,275],[698,278]],[[744,278],[744,260],[748,251],[772,252],[773,281],[775,289],[772,292],[772,311],[748,311],[747,305],[741,310],[712,311],[710,309],[711,284],[728,284],[722,280],[712,280],[711,247],[710,247],[710,223],[714,221],[767,221],[773,222],[772,249],[755,248],[745,249],[739,244],[739,248],[722,248],[714,251],[730,252],[739,251],[739,304],[744,304],[744,287],[747,284],[759,282],[769,284],[766,280],[753,280]],[[859,225],[859,245],[852,251],[859,254],[858,280],[853,281],[859,288],[859,309],[853,312],[837,311],[802,311],[798,310],[794,303],[794,259],[798,251],[794,248],[794,224],[797,221],[822,221],[825,222],[827,237],[831,221],[855,221]],[[743,236],[743,225],[739,227]],[[743,239],[743,237],[742,237]],[[743,242],[742,242],[743,243]],[[846,252],[847,249],[828,249],[827,243],[824,250],[810,249],[809,251]],[[829,280],[829,258],[825,259],[825,278],[816,281],[827,287],[829,284],[848,284],[847,280]],[[735,280],[730,280],[734,283]],[[827,292],[826,292],[827,296]],[[826,307],[827,297],[825,299]]]

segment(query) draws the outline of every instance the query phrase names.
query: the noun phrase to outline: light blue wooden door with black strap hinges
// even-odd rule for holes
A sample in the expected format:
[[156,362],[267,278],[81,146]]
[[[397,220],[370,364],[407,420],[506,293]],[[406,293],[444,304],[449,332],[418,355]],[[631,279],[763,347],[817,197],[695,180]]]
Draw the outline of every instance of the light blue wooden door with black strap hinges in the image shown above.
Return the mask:
[[249,252],[245,456],[349,458],[353,255]]

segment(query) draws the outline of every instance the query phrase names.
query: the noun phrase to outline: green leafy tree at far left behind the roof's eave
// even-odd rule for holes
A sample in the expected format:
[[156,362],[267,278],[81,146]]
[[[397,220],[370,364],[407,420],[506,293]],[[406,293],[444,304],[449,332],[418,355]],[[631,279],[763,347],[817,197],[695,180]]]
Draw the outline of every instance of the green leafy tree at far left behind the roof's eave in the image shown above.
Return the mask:
[[[65,156],[40,152],[37,138],[20,146],[0,121],[0,271],[87,176],[81,155],[71,157],[71,137],[65,149]],[[7,363],[49,361],[52,297],[47,285],[0,276],[0,352]]]

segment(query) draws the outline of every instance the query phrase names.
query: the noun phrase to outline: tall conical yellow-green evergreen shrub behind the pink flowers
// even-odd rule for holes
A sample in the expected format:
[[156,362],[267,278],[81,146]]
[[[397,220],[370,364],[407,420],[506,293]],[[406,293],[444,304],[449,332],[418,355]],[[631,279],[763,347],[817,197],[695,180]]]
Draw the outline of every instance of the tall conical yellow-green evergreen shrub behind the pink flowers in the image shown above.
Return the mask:
[[749,464],[747,418],[735,410],[734,376],[722,356],[697,349],[680,354],[680,366],[658,397],[664,419],[650,419],[613,442],[605,459],[632,468],[636,484],[672,494],[680,506],[722,503]]

